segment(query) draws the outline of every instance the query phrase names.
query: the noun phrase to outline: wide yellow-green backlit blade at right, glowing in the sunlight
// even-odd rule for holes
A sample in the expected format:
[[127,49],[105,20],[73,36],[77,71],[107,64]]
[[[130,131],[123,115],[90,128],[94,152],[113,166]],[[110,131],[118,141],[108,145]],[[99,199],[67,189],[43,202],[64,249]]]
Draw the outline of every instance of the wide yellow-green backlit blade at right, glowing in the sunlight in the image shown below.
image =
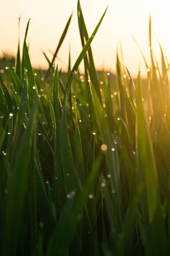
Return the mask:
[[145,186],[145,197],[142,200],[142,214],[144,220],[147,221],[148,218],[148,221],[151,223],[160,201],[153,145],[142,105],[140,75],[138,77],[137,88],[136,147],[139,183],[143,183]]

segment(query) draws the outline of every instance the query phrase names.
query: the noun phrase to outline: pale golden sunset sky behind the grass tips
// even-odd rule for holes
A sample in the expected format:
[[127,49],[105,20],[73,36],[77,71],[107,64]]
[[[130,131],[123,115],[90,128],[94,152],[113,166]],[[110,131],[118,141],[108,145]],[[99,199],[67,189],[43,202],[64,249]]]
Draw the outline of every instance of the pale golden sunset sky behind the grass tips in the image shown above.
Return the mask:
[[[89,35],[93,32],[100,17],[109,4],[108,12],[92,43],[94,61],[98,69],[105,64],[107,70],[114,72],[116,67],[116,45],[122,42],[125,65],[132,75],[136,75],[139,62],[144,61],[131,34],[139,42],[149,62],[148,23],[152,15],[153,51],[160,61],[158,39],[167,57],[170,56],[169,10],[170,0],[81,0],[82,11]],[[16,54],[18,41],[18,21],[21,14],[20,38],[31,18],[28,31],[29,52],[34,67],[48,67],[40,49],[55,51],[59,38],[74,10],[74,16],[59,58],[65,70],[68,64],[69,42],[71,44],[71,63],[76,61],[82,47],[77,24],[77,0],[0,0],[0,51]],[[51,58],[51,54],[47,54]],[[83,66],[81,66],[83,67]]]

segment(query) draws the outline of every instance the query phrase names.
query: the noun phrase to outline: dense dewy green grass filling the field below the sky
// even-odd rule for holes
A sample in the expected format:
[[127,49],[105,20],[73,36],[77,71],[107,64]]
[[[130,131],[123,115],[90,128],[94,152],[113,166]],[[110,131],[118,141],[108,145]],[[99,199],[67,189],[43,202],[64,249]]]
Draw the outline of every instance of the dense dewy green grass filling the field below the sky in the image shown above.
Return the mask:
[[[170,254],[169,66],[152,52],[147,81],[116,61],[116,83],[94,65],[77,5],[82,52],[62,81],[55,59],[31,67],[26,35],[0,74],[0,253],[3,256]],[[20,21],[19,21],[20,22]],[[22,56],[22,60],[21,60]],[[85,74],[79,73],[84,61]],[[125,76],[126,75],[126,76]]]

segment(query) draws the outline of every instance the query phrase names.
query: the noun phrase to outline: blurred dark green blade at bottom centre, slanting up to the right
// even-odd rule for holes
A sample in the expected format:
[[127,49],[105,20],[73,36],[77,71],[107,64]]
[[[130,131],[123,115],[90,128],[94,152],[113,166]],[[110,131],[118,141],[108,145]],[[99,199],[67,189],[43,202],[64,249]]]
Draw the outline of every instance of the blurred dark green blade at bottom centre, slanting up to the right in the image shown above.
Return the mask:
[[62,255],[68,250],[79,222],[79,218],[77,218],[77,216],[82,215],[82,210],[88,201],[89,193],[91,192],[94,180],[96,179],[99,171],[99,164],[100,156],[95,161],[91,174],[89,175],[82,191],[79,193],[77,198],[75,198],[75,201],[73,199],[74,194],[71,194],[70,198],[68,198],[65,208],[63,209],[63,212],[61,212],[51,243],[49,244],[48,256]]

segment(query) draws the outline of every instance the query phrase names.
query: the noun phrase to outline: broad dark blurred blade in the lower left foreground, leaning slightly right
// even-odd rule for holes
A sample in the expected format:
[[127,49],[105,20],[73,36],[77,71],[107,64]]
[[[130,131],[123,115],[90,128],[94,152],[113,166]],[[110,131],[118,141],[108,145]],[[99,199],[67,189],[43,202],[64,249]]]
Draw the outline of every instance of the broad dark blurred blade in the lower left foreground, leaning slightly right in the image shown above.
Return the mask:
[[[31,132],[32,123],[36,115],[37,103],[31,110],[28,125],[23,133],[16,160],[11,166],[11,175],[8,185],[8,200],[6,204],[6,225],[4,238],[4,252],[6,255],[16,253],[17,241],[20,237],[24,198],[27,189],[28,166],[31,157]],[[27,147],[25,145],[28,145]],[[23,169],[24,166],[24,169]],[[18,182],[20,181],[20,186]],[[10,242],[11,246],[8,244]]]

